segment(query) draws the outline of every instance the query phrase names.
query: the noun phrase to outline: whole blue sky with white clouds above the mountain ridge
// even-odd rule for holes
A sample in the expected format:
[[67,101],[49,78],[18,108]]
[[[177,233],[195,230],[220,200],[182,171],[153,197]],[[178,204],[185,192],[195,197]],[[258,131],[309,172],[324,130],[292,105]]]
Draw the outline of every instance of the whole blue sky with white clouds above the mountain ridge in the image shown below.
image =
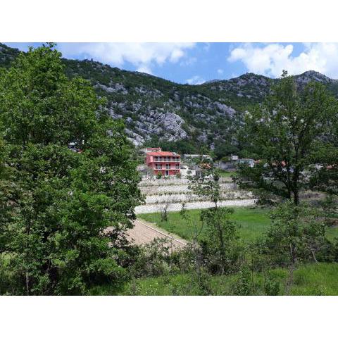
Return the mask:
[[[27,51],[39,43],[6,43]],[[58,43],[65,58],[93,59],[113,67],[201,84],[244,73],[280,77],[316,70],[338,78],[338,43]]]

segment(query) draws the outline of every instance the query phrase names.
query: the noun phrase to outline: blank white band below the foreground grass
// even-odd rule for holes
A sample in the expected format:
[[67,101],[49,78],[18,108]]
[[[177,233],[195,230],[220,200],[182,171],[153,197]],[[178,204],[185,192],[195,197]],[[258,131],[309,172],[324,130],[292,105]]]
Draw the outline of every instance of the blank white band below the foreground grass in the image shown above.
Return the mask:
[[[335,297],[2,297],[2,337],[333,337]],[[6,333],[6,334],[5,334]]]

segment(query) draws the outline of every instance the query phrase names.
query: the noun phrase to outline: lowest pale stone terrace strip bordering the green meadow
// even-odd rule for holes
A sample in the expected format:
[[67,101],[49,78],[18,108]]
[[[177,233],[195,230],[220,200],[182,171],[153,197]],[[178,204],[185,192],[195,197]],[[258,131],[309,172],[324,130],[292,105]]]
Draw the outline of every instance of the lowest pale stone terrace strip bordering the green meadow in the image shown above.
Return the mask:
[[[219,206],[252,206],[255,204],[256,199],[237,199],[237,200],[228,200],[220,201]],[[161,210],[163,204],[147,204],[144,206],[137,206],[135,208],[135,213],[158,213]],[[187,209],[205,209],[212,208],[213,203],[211,202],[190,202],[185,204]],[[168,211],[180,211],[182,208],[181,203],[173,203],[168,206]]]

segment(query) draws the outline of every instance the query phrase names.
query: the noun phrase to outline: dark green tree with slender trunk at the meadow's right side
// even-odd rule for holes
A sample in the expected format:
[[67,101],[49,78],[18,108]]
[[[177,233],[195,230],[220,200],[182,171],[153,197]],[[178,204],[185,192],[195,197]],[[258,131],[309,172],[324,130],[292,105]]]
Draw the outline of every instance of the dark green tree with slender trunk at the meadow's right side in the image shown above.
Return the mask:
[[299,204],[299,192],[308,183],[309,166],[318,157],[336,107],[323,84],[296,87],[284,72],[265,102],[246,113],[242,136],[261,164],[240,168],[239,184]]

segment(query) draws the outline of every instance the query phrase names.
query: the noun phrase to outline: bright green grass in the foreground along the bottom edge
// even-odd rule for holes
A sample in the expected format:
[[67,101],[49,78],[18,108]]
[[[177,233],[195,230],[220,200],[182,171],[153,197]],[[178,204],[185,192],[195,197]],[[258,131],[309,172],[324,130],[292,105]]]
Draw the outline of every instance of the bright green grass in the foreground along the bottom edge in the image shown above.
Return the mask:
[[[271,275],[280,283],[280,295],[284,295],[285,282],[288,272],[286,269],[278,268],[271,271]],[[238,275],[213,276],[209,281],[211,291],[217,295],[232,294],[232,286],[237,282]],[[294,272],[294,284],[290,294],[293,296],[309,295],[338,295],[338,264],[319,263],[300,265]],[[255,292],[253,294],[264,294],[264,279],[261,273],[253,275]],[[196,284],[189,275],[165,275],[161,277],[147,277],[128,283],[120,294],[137,295],[194,295],[198,294]]]

